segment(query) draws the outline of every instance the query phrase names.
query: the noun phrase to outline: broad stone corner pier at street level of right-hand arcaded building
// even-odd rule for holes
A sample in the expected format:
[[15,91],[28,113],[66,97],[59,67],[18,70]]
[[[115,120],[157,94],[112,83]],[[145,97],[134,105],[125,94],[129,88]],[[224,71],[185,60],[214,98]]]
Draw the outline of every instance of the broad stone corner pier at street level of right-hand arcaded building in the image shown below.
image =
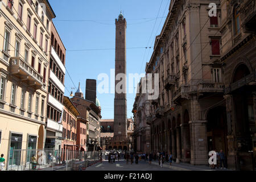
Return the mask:
[[191,128],[191,164],[209,164],[207,148],[207,121],[189,121]]

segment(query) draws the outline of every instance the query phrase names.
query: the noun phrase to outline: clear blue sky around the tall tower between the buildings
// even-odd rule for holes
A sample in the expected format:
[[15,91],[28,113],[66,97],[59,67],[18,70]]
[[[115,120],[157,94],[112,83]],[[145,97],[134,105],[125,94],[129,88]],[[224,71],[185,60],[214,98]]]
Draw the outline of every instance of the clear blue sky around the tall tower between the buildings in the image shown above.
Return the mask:
[[[155,36],[162,30],[168,14],[170,0],[49,0],[56,18],[53,19],[64,43],[66,68],[65,96],[76,92],[81,82],[85,94],[86,79],[96,79],[100,73],[110,77],[115,64],[115,18],[120,10],[127,21],[127,75],[144,73],[150,60]],[[159,18],[156,18],[159,17]],[[68,21],[67,21],[68,20]],[[101,49],[81,51],[81,49]],[[106,50],[102,50],[106,49]],[[80,50],[80,51],[74,51]],[[75,86],[73,85],[73,82]],[[100,81],[97,81],[97,85]],[[128,85],[134,88],[134,85]],[[97,93],[101,103],[102,118],[114,118],[114,94]],[[127,94],[127,118],[133,114],[134,94]]]

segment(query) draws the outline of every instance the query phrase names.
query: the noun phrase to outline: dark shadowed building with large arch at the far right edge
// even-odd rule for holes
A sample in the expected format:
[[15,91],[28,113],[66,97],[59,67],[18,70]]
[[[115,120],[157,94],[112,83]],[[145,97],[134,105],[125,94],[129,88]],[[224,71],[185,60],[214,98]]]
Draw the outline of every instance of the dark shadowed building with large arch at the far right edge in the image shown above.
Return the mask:
[[220,9],[228,166],[255,170],[256,4],[251,0],[220,1]]

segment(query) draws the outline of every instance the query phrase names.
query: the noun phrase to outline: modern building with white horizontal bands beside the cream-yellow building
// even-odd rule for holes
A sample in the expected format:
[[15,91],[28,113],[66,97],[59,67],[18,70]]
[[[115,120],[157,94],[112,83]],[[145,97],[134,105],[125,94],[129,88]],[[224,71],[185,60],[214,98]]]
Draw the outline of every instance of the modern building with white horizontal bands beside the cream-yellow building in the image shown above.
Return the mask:
[[45,148],[55,150],[60,150],[63,131],[63,126],[59,121],[63,111],[63,96],[65,92],[65,50],[57,30],[51,22]]

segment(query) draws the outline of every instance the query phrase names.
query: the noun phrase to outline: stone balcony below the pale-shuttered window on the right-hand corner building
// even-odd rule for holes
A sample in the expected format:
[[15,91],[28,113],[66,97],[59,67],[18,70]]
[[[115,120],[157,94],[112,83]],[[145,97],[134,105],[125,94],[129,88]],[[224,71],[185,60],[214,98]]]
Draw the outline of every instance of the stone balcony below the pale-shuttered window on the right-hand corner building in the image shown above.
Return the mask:
[[223,93],[224,83],[201,82],[197,85],[197,93]]

